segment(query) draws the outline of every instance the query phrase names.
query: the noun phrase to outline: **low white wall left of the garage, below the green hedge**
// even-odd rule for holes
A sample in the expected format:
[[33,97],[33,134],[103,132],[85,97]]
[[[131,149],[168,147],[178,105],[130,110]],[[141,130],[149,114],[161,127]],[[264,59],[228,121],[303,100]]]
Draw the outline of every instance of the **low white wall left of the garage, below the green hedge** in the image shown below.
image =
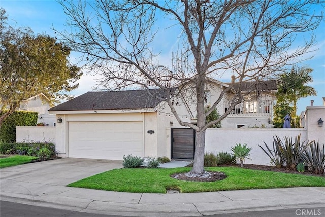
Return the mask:
[[16,127],[16,141],[41,141],[55,144],[55,127]]

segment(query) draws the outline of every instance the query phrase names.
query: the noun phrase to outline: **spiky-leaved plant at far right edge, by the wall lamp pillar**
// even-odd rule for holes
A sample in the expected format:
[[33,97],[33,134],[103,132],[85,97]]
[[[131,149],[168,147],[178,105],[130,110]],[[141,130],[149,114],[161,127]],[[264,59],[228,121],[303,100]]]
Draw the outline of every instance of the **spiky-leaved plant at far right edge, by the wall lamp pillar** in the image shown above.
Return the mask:
[[301,158],[314,174],[324,174],[325,170],[325,145],[321,147],[314,141],[304,152],[300,151]]

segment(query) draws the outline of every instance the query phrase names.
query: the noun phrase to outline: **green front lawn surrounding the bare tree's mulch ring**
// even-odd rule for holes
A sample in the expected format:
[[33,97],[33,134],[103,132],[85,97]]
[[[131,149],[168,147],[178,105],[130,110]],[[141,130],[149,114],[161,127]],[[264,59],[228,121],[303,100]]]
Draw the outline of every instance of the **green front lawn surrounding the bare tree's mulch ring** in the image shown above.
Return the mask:
[[221,171],[228,176],[228,178],[217,182],[188,182],[170,177],[171,174],[187,172],[190,169],[188,167],[174,169],[114,169],[79,180],[68,186],[138,193],[166,193],[166,189],[178,189],[180,192],[185,193],[303,186],[325,187],[325,177],[238,167],[207,168],[207,171]]

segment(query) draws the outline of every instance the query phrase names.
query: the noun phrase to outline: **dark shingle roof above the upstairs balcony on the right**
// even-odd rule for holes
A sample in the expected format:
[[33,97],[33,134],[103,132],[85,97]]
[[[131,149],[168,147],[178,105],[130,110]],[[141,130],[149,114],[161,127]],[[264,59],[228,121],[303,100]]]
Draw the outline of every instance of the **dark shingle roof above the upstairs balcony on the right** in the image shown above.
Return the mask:
[[[227,83],[231,84],[231,83]],[[234,84],[234,89],[239,88],[239,82]],[[277,81],[276,80],[268,80],[268,81],[250,81],[250,82],[242,82],[241,90],[242,91],[271,91],[277,90]]]

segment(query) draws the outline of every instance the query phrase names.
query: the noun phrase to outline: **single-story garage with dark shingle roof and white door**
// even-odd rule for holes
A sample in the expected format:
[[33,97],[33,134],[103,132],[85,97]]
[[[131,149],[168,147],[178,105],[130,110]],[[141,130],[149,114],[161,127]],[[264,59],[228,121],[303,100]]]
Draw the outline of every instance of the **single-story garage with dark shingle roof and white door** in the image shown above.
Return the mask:
[[[87,92],[51,108],[49,112],[62,119],[56,125],[59,156],[111,160],[122,160],[128,154],[171,156],[171,125],[178,125],[155,95],[163,96],[164,92]],[[193,142],[189,144],[192,150]],[[180,157],[193,158],[191,155]]]

